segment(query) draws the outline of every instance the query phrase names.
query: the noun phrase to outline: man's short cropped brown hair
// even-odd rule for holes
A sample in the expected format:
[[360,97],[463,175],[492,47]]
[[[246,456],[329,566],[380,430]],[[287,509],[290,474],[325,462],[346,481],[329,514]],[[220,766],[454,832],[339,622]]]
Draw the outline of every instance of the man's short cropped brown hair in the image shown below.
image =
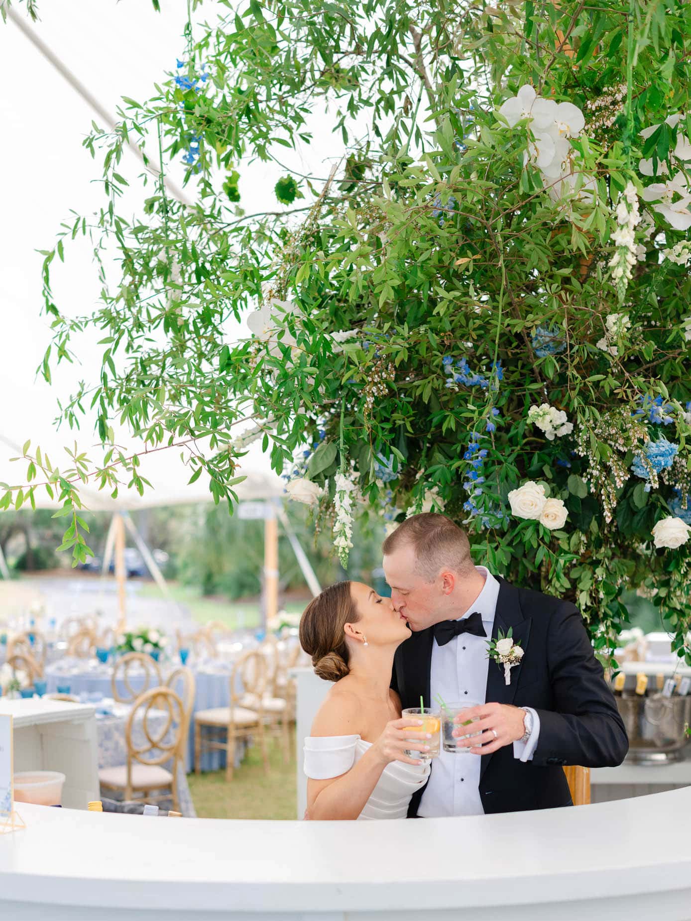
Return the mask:
[[416,568],[429,582],[444,566],[462,576],[474,570],[468,535],[446,515],[422,512],[405,519],[382,543],[381,551],[388,556],[404,544],[415,550]]

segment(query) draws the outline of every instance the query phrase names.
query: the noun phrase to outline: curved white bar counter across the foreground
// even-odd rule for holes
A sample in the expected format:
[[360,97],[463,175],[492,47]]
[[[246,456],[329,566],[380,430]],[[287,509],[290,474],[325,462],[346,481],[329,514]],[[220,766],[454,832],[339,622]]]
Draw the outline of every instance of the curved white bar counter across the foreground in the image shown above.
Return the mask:
[[396,822],[18,812],[27,828],[0,836],[6,918],[691,916],[691,787]]

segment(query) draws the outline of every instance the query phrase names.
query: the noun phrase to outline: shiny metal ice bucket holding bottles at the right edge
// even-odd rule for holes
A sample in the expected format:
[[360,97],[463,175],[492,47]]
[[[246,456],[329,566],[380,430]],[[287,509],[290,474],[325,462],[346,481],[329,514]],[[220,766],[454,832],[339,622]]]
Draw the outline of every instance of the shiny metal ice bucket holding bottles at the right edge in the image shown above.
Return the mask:
[[627,761],[635,764],[665,764],[682,761],[689,739],[691,695],[664,697],[638,694],[616,698],[616,705],[628,733]]

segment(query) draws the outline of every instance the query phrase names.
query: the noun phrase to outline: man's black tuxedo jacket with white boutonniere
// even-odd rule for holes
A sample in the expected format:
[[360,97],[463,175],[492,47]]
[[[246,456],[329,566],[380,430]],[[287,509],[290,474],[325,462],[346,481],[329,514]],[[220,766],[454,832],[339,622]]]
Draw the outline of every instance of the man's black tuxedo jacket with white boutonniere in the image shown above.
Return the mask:
[[[514,758],[513,745],[481,756],[480,798],[486,812],[570,806],[562,765],[621,764],[628,751],[627,732],[578,609],[496,578],[499,594],[492,636],[512,627],[512,638],[524,652],[521,664],[511,669],[508,686],[503,666],[489,661],[486,703],[532,706],[540,717],[540,735],[530,762]],[[396,651],[392,688],[404,707],[419,706],[420,694],[430,705],[432,641],[430,627],[414,633]],[[416,816],[422,793],[419,790],[411,800],[409,817]]]

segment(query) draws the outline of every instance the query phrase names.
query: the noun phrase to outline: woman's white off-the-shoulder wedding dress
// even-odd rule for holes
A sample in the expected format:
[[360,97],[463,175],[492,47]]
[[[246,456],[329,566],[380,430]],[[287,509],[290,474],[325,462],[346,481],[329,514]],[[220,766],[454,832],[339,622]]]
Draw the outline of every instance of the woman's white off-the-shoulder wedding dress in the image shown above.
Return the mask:
[[[312,780],[339,777],[367,752],[371,742],[359,736],[308,736],[305,739],[304,771]],[[429,764],[392,761],[381,772],[358,819],[404,819],[408,803],[427,783]]]

